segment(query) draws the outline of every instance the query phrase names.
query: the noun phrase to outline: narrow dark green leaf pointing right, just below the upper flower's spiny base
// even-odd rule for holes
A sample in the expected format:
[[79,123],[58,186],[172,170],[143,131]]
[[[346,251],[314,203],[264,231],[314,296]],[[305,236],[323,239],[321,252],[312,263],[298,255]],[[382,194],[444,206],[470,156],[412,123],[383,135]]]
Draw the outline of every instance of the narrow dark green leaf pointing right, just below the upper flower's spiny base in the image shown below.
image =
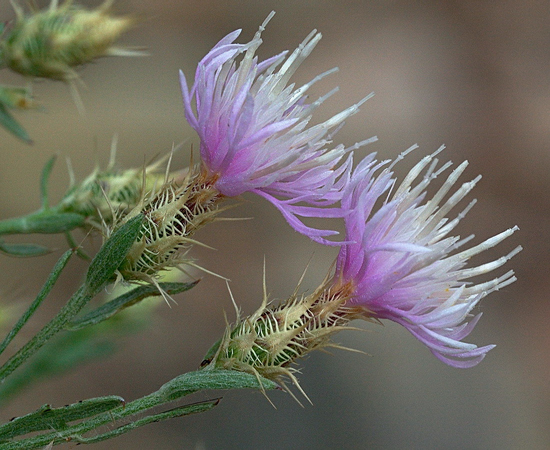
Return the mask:
[[[169,295],[179,294],[193,288],[199,281],[194,281],[192,283],[158,283],[161,289],[164,290]],[[139,301],[147,298],[161,295],[161,292],[156,286],[148,284],[147,286],[140,286],[138,288],[130,290],[125,294],[119,295],[116,299],[113,299],[107,302],[104,305],[101,305],[99,308],[94,311],[89,312],[88,314],[78,318],[73,319],[65,328],[67,330],[79,330],[80,328],[95,325],[96,323],[102,322],[103,320],[108,319],[109,317],[114,316],[117,312],[122,311],[128,306],[135,305]]]

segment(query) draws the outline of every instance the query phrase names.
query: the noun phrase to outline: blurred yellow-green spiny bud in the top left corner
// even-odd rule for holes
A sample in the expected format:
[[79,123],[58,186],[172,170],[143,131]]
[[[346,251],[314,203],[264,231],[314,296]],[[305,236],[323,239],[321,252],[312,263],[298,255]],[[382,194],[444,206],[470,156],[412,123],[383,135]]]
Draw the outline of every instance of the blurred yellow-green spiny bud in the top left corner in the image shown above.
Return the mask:
[[114,41],[133,23],[129,17],[111,17],[107,0],[86,10],[67,0],[25,15],[14,3],[17,18],[0,48],[5,65],[23,75],[71,81],[74,68],[108,55],[135,55],[115,47]]

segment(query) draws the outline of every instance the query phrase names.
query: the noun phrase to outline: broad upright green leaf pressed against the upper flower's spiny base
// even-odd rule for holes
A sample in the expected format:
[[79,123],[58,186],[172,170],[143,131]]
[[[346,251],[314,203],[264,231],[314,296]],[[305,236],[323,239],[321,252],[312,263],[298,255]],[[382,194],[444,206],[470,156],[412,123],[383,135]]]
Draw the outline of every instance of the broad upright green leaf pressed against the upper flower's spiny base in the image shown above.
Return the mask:
[[85,285],[90,294],[95,295],[103,285],[113,278],[114,272],[124,261],[141,229],[143,214],[131,218],[106,240],[92,260]]

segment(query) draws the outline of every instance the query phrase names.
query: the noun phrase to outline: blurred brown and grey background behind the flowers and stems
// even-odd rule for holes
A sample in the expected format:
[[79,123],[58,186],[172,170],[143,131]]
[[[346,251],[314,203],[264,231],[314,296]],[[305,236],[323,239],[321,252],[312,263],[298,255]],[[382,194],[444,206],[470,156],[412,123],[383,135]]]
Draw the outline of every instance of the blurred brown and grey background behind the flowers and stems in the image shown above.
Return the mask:
[[[367,331],[340,333],[337,340],[372,357],[337,350],[332,355],[317,352],[301,362],[300,383],[313,406],[301,408],[282,392],[270,394],[277,409],[259,392],[214,392],[194,397],[223,394],[222,403],[208,413],[148,425],[92,447],[548,448],[548,3],[119,0],[115,9],[139,13],[139,25],[123,43],[146,47],[150,56],[105,58],[85,67],[85,87],[79,88],[84,116],[67,85],[34,84],[36,100],[46,111],[17,113],[17,118],[35,144],[27,146],[0,130],[1,218],[38,208],[39,174],[52,153],[61,156],[51,182],[51,197],[57,200],[68,183],[64,158],[70,157],[82,179],[96,162],[107,163],[114,134],[121,167],[141,166],[144,159],[180,142],[184,145],[175,156],[175,167],[184,167],[198,139],[184,119],[178,70],[192,80],[197,62],[221,37],[242,28],[239,42],[248,42],[274,9],[277,14],[263,34],[260,58],[294,49],[317,28],[323,39],[294,81],[305,83],[324,70],[340,68],[312,92],[318,96],[340,86],[315,120],[376,92],[336,138],[351,145],[378,136],[378,142],[357,152],[356,161],[372,151],[379,158],[394,158],[418,143],[420,149],[396,168],[402,177],[420,157],[447,145],[442,158],[455,165],[470,161],[463,181],[483,175],[474,190],[478,203],[458,233],[474,232],[478,243],[515,224],[520,228],[476,261],[496,259],[519,244],[524,251],[489,276],[513,268],[518,281],[479,306],[483,318],[468,341],[497,347],[473,369],[447,367],[393,323],[358,323]],[[3,20],[14,17],[8,2],[0,12]],[[2,75],[3,83],[23,82],[6,71]],[[217,249],[194,249],[200,264],[232,280],[233,295],[244,312],[259,305],[264,256],[271,298],[292,293],[310,259],[303,289],[315,288],[337,249],[322,248],[295,233],[259,197],[245,200],[227,215],[253,220],[212,224],[197,235]],[[7,319],[12,322],[66,248],[63,239],[23,240],[58,250],[31,260],[0,255],[0,301],[14,311]],[[72,260],[42,306],[40,320],[24,328],[19,343],[74,292],[85,267],[85,262]],[[169,309],[158,300],[149,313],[151,325],[120,338],[118,351],[109,358],[32,386],[5,405],[2,421],[43,403],[61,406],[107,394],[134,399],[195,370],[221,337],[222,310],[232,319],[233,306],[225,283],[212,276],[204,276],[177,301]]]

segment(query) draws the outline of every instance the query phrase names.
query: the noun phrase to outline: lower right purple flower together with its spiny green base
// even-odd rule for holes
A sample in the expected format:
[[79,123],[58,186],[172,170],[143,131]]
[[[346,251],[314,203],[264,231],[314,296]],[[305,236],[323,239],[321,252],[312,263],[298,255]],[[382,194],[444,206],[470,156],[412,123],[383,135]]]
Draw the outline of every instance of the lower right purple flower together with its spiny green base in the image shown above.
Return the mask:
[[[268,305],[264,295],[260,309],[228,326],[216,351],[204,361],[205,367],[250,372],[283,387],[282,378],[288,377],[303,392],[291,365],[312,350],[339,347],[330,338],[349,329],[355,319],[400,323],[450,366],[472,367],[485,358],[494,345],[477,347],[462,341],[481,317],[481,313],[470,313],[483,297],[516,278],[513,271],[481,283],[470,278],[499,268],[521,246],[497,260],[465,266],[470,257],[502,242],[518,228],[459,251],[473,235],[460,239],[449,233],[475,200],[452,220],[445,216],[480,177],[464,183],[442,202],[466,168],[465,161],[426,200],[428,184],[450,166],[448,162],[437,168],[435,156],[442,150],[422,158],[397,188],[391,169],[406,152],[393,164],[377,162],[374,154],[358,164],[342,200],[349,212],[346,242],[333,276],[310,295],[299,297],[296,289],[279,305]],[[425,174],[415,184],[423,170]]]

